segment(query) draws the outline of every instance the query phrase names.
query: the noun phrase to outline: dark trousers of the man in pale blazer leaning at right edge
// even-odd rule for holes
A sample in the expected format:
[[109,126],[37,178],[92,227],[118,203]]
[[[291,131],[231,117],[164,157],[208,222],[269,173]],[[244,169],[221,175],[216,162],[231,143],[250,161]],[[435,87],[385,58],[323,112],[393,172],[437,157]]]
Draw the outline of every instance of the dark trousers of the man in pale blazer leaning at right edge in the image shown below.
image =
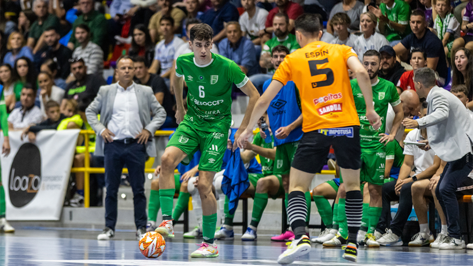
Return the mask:
[[448,162],[445,168],[443,168],[443,173],[440,175],[440,180],[435,190],[443,213],[447,217],[448,234],[450,237],[457,239],[461,237],[461,230],[459,223],[460,211],[455,191],[468,178],[468,174],[470,174],[472,169],[473,155],[471,153],[466,154],[459,160]]

